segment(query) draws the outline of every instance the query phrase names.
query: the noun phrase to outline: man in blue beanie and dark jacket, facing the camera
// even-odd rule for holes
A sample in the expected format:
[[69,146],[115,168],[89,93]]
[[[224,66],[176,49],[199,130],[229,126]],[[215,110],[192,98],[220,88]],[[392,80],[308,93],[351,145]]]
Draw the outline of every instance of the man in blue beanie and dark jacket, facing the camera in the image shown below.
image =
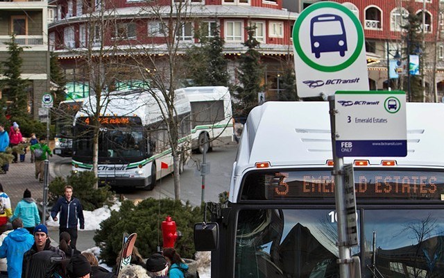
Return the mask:
[[[49,240],[48,236],[48,228],[46,228],[44,224],[38,224],[34,228],[34,244],[23,256],[23,278],[44,278],[44,272],[42,275],[37,275],[35,272],[33,272],[33,270],[42,265],[41,261],[35,259],[35,255],[42,251],[50,251],[52,254],[58,255],[62,259],[65,259],[65,252],[57,247],[51,246],[51,240]],[[49,262],[44,263],[44,265],[49,264]]]

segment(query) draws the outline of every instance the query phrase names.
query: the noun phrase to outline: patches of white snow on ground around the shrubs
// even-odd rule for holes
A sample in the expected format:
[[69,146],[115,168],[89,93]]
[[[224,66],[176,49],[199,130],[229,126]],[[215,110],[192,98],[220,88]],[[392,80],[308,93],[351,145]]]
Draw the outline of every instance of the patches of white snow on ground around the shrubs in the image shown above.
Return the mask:
[[[100,223],[111,216],[111,211],[119,211],[121,202],[116,201],[111,207],[103,206],[102,208],[97,208],[94,211],[83,211],[83,216],[86,221],[85,230],[94,231],[100,229]],[[58,217],[58,215],[57,215]],[[58,221],[53,221],[52,218],[46,221],[47,226],[58,227]],[[92,247],[85,252],[92,252],[96,257],[100,255],[99,247]],[[198,264],[198,272],[200,278],[210,278],[211,277],[211,252],[196,252],[196,261]],[[99,262],[99,265],[108,270],[112,270],[105,263]]]

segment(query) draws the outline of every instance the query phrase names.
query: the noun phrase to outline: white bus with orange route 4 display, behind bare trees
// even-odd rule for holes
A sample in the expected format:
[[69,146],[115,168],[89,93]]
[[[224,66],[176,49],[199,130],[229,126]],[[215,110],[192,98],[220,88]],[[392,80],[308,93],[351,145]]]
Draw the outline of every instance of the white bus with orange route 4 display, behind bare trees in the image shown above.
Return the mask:
[[[128,90],[111,92],[99,117],[99,184],[152,190],[156,180],[173,171],[173,157],[167,126],[160,105],[150,92]],[[185,94],[176,94],[175,108],[180,145],[190,136],[190,106]],[[94,97],[85,99],[74,121],[72,165],[74,171],[92,170]],[[165,110],[163,110],[165,111]],[[187,146],[181,146],[187,149]],[[181,156],[181,168],[185,163]],[[162,169],[167,165],[167,169]]]

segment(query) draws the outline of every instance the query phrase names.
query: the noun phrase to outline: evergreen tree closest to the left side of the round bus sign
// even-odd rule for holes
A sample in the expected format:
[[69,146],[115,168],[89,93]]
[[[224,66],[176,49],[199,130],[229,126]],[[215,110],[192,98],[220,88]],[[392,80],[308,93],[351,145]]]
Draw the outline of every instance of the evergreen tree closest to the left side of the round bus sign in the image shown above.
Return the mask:
[[264,66],[260,61],[259,42],[254,38],[254,26],[246,27],[248,39],[244,43],[248,47],[244,54],[241,54],[238,76],[241,86],[235,92],[234,97],[237,102],[234,103],[234,115],[237,117],[246,117],[253,107],[257,106],[257,93],[264,91],[261,85],[264,76]]

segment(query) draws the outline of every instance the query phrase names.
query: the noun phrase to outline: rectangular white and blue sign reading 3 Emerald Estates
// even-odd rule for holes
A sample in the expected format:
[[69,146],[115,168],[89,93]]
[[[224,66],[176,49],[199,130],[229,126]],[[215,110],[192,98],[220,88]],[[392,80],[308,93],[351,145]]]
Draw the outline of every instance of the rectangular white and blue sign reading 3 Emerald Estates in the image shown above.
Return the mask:
[[336,156],[407,156],[403,91],[338,91]]

